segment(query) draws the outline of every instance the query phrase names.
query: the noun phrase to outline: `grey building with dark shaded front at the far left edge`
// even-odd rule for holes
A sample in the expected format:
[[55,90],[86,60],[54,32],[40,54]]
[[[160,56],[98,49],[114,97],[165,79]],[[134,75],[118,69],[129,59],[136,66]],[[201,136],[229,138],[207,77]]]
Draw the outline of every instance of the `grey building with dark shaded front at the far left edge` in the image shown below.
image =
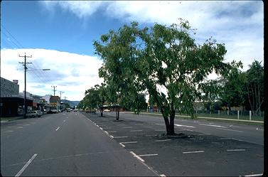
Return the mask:
[[[24,95],[19,95],[18,80],[6,80],[0,77],[1,92],[0,92],[0,116],[14,117],[23,115]],[[33,99],[26,96],[26,105],[31,108]]]

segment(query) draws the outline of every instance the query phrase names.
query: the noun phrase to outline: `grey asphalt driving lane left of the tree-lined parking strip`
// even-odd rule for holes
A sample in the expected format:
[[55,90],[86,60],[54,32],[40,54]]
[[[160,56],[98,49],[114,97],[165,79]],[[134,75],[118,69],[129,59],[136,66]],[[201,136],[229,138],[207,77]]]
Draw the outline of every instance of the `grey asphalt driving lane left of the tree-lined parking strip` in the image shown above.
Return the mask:
[[[37,155],[35,155],[37,154]],[[31,163],[25,168],[27,162]],[[23,167],[22,173],[19,173]],[[1,124],[2,176],[156,176],[79,112]]]

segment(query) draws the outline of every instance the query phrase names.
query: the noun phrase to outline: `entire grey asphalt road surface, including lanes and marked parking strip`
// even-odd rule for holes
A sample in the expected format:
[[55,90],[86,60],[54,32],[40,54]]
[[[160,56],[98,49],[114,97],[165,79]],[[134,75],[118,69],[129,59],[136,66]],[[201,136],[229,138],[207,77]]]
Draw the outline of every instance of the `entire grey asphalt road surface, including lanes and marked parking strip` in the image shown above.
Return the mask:
[[85,112],[1,124],[3,176],[245,176],[264,169],[264,128],[159,116]]

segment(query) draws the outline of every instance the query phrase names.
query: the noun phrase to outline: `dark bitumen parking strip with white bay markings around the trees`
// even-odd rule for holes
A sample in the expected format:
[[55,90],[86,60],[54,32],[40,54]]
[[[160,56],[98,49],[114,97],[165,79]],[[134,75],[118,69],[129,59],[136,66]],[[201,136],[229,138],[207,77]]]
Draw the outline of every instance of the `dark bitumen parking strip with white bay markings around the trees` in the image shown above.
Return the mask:
[[124,119],[124,116],[119,118],[122,122],[114,122],[115,117],[107,115],[85,115],[104,131],[109,129],[110,136],[120,137],[114,141],[123,144],[123,148],[139,156],[159,174],[245,176],[264,171],[264,146],[259,144],[190,132],[181,127],[175,130],[183,136],[165,136],[165,126],[159,124]]

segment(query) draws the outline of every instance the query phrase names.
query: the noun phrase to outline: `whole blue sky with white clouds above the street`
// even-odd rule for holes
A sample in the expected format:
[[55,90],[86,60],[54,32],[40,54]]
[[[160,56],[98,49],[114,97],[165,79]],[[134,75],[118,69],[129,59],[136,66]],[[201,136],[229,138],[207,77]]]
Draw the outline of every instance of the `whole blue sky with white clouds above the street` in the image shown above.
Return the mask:
[[[248,70],[264,60],[262,1],[1,1],[1,77],[18,80],[26,91],[80,101],[85,90],[103,81],[102,59],[93,41],[131,21],[140,27],[170,26],[183,18],[196,28],[195,42],[211,36],[225,43],[225,62],[241,60]],[[42,70],[50,69],[50,70]],[[215,77],[215,76],[213,76]]]

